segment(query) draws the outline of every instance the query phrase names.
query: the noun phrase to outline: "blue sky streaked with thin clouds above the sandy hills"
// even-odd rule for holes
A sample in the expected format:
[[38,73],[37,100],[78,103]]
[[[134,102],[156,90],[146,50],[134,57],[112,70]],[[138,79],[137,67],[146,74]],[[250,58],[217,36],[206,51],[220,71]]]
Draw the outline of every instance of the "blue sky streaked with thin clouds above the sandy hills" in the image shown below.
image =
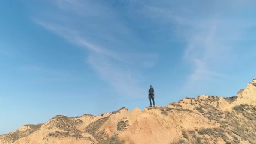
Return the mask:
[[0,134],[55,115],[99,115],[255,77],[256,3],[245,0],[0,2]]

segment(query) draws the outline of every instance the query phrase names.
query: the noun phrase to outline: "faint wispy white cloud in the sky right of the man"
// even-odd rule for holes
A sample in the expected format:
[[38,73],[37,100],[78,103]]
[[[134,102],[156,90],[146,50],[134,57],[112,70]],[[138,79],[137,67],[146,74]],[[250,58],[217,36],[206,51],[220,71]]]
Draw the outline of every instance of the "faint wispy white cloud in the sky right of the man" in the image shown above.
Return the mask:
[[[169,5],[149,2],[144,5],[145,16],[160,25],[176,25],[169,32],[175,33],[176,38],[186,43],[183,59],[192,71],[183,89],[195,89],[196,86],[203,86],[214,79],[228,77],[220,71],[231,68],[229,65],[237,61],[234,53],[241,48],[236,44],[248,40],[245,32],[249,27],[255,26],[256,21],[240,16],[227,17],[225,13],[240,15],[239,10],[250,7],[252,2],[214,1],[211,4],[204,3],[201,7],[198,1],[193,1],[193,5],[198,5],[196,7],[199,8],[193,7],[189,2]],[[219,3],[223,6],[218,6]]]

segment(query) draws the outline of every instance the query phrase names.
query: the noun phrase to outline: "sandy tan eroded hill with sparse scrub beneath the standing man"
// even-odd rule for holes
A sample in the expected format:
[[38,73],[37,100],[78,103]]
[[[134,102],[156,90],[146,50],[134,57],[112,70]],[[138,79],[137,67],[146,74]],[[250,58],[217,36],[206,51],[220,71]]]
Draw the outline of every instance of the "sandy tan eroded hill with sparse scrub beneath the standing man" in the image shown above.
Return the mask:
[[237,96],[201,95],[165,107],[55,116],[0,135],[0,144],[256,144],[256,79]]

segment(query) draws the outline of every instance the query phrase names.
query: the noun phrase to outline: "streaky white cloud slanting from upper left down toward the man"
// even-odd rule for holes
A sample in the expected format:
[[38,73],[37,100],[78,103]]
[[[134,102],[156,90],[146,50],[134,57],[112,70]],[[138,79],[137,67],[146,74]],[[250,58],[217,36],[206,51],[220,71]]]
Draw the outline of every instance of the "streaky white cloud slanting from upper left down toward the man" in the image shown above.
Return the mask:
[[[118,39],[120,33],[128,34],[128,28],[122,25],[116,13],[107,7],[98,3],[87,3],[84,1],[57,0],[56,3],[58,6],[57,10],[58,12],[60,11],[60,17],[64,15],[64,12],[71,11],[73,13],[72,15],[78,16],[81,19],[80,21],[76,21],[77,18],[73,19],[72,15],[67,16],[71,21],[76,21],[77,27],[74,27],[72,22],[55,22],[47,19],[47,17],[34,19],[34,22],[64,37],[69,42],[88,50],[88,64],[99,74],[101,79],[108,82],[116,91],[124,96],[142,95],[144,90],[140,89],[138,85],[140,80],[137,79],[137,76],[140,75],[140,69],[150,68],[156,65],[157,55],[149,52],[132,52],[132,50],[113,45],[98,45],[102,39],[97,37],[88,38],[88,36],[92,35],[102,36],[104,31],[107,31],[107,35],[113,37],[115,40]],[[86,7],[89,7],[89,10]],[[99,17],[97,18],[97,16]],[[97,19],[94,19],[94,22],[89,20],[95,17]],[[106,26],[110,25],[108,23],[97,23],[104,21],[106,17],[112,19],[113,23],[111,23],[112,26],[110,29],[104,26],[105,24]],[[58,16],[56,19],[58,19]],[[91,24],[84,25],[86,19]],[[103,28],[106,30],[103,30]],[[114,28],[114,33],[112,28]],[[95,45],[97,41],[98,43]],[[110,43],[115,43],[115,41],[110,41]]]

